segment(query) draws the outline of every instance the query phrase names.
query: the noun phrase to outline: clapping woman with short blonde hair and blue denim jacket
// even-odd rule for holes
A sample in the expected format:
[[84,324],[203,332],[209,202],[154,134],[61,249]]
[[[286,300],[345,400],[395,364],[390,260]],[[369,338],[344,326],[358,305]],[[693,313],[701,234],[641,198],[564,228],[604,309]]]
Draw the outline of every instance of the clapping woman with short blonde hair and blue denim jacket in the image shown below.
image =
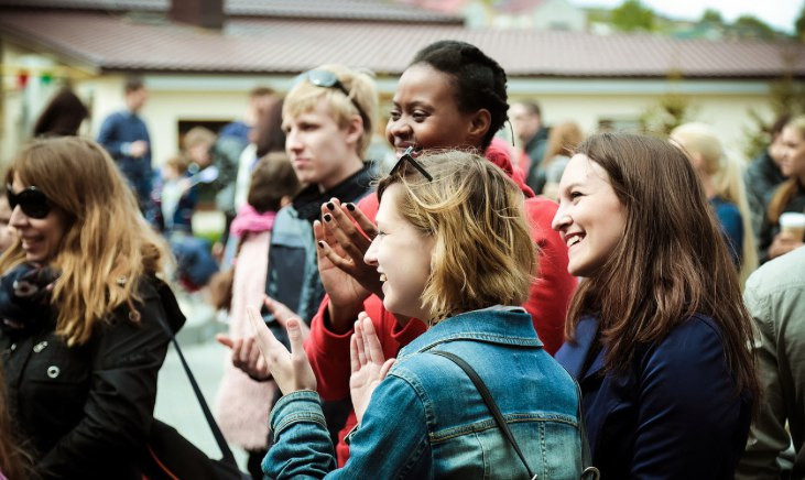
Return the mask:
[[[520,186],[483,156],[448,151],[403,156],[378,196],[380,234],[366,263],[383,283],[385,307],[426,331],[387,359],[372,320],[355,323],[358,426],[349,460],[336,469],[301,320],[289,320],[292,360],[252,308],[260,350],[284,393],[271,415],[266,478],[580,478],[576,385],[521,306],[536,259]],[[522,460],[467,373],[438,353],[477,371]]]

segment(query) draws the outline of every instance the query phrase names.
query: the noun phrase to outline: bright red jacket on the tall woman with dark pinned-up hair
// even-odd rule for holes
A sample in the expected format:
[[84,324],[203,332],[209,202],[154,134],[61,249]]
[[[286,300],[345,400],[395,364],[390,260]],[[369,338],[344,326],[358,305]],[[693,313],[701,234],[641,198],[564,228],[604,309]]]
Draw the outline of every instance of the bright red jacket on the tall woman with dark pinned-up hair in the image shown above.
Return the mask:
[[[512,170],[509,156],[490,148],[487,157],[501,166],[523,189],[525,214],[532,228],[532,238],[540,247],[537,255],[537,275],[531,285],[529,299],[523,307],[531,314],[540,339],[545,350],[554,354],[564,341],[565,314],[570,296],[576,287],[576,279],[567,273],[567,247],[559,234],[551,228],[551,221],[558,206],[546,198],[534,197],[534,193],[525,186],[522,175]],[[374,220],[378,212],[378,196],[366,196],[358,207]],[[325,296],[316,316],[311,323],[311,336],[305,341],[305,351],[318,381],[318,393],[325,400],[340,400],[349,396],[349,339],[352,330],[336,335],[325,327],[324,315],[327,314],[329,298]],[[411,320],[400,327],[396,318],[383,307],[383,302],[370,295],[363,302],[363,310],[374,324],[374,328],[383,346],[385,358],[396,357],[400,349],[425,331],[422,321]],[[339,433],[336,447],[338,466],[349,458],[349,447],[344,444],[344,436],[357,423],[355,412],[347,418],[347,424]]]

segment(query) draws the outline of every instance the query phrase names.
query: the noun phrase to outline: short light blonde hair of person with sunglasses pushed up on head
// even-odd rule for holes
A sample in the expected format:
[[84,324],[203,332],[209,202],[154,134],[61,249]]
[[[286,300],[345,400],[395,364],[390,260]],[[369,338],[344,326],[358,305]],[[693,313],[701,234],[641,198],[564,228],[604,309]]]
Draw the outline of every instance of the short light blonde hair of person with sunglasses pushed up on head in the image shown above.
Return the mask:
[[363,134],[358,141],[357,153],[362,159],[366,156],[369,143],[372,141],[372,133],[377,124],[378,89],[372,76],[362,70],[356,70],[342,65],[322,65],[315,70],[328,70],[338,77],[338,81],[349,91],[349,97],[337,87],[317,87],[307,80],[296,84],[285,96],[282,107],[282,116],[297,117],[314,108],[319,99],[327,100],[339,128],[346,128],[355,116],[360,116],[358,103],[366,114],[363,122]]

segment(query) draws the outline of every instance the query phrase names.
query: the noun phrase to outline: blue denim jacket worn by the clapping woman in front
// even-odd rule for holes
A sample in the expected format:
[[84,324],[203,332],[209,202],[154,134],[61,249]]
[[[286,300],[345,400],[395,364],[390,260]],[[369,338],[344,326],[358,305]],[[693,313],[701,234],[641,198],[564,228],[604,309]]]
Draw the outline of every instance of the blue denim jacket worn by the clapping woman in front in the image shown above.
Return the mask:
[[284,396],[271,414],[276,444],[263,460],[266,477],[527,478],[467,374],[428,350],[472,366],[540,479],[579,478],[576,385],[519,307],[446,319],[403,348],[350,435],[350,458],[340,470],[318,395]]

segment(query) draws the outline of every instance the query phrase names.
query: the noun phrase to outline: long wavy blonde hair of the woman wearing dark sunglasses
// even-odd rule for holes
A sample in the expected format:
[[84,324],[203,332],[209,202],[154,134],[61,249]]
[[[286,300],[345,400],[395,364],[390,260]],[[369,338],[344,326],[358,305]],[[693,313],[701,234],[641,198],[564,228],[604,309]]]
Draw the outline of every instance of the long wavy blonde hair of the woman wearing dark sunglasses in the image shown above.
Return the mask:
[[[142,275],[162,273],[164,240],[145,222],[131,188],[97,143],[64,137],[20,151],[6,181],[35,185],[65,215],[66,231],[53,265],[61,276],[52,303],[56,334],[84,345],[95,326],[122,304],[132,310]],[[0,271],[25,261],[20,239],[0,257]]]

